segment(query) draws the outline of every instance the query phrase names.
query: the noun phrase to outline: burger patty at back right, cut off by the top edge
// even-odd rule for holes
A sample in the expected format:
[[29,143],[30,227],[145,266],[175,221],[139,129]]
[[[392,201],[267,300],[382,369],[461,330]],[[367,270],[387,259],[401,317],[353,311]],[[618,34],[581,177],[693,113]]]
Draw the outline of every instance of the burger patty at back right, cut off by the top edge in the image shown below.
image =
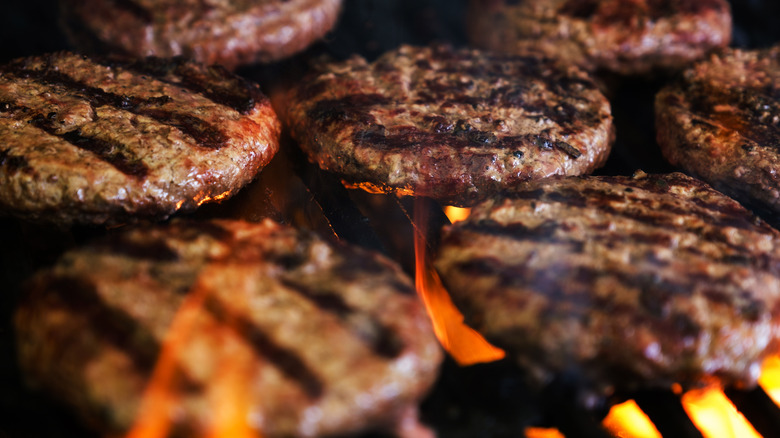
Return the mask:
[[679,69],[731,39],[726,0],[470,0],[467,20],[478,47],[622,74]]

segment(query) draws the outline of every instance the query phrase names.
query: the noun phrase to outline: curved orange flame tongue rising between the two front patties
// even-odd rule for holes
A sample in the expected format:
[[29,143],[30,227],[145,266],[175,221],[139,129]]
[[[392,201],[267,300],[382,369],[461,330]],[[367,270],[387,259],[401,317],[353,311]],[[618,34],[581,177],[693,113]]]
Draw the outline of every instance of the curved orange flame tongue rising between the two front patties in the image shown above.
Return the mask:
[[426,228],[428,219],[424,210],[414,209],[418,227],[414,235],[415,285],[431,318],[436,337],[460,365],[503,359],[506,355],[504,350],[491,345],[482,335],[463,323],[463,315],[452,303],[439,275],[430,266],[426,257],[425,239],[420,232]]

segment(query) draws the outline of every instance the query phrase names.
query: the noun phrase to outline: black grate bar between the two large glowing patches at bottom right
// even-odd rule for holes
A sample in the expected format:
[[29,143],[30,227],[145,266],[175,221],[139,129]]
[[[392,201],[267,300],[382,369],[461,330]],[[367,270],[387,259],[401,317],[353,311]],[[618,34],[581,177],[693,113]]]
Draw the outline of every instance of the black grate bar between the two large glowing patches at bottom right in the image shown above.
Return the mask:
[[680,397],[673,392],[641,391],[634,395],[634,400],[662,436],[703,438],[685,412]]

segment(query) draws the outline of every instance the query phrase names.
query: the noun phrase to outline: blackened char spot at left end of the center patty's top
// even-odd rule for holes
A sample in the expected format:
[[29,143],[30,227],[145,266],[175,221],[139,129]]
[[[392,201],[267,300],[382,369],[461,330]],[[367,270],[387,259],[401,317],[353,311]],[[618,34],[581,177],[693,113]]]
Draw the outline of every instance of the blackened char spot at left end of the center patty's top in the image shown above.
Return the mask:
[[375,125],[372,108],[389,105],[391,100],[381,94],[351,94],[340,99],[320,100],[307,112],[309,118],[327,126],[333,123]]

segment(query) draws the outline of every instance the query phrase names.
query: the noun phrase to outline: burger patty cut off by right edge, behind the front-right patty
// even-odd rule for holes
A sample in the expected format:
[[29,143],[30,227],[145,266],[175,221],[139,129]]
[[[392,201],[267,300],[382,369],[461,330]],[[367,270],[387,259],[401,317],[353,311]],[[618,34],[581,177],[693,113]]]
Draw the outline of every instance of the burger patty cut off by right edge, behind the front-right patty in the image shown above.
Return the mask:
[[713,55],[655,108],[669,162],[780,223],[780,46]]

